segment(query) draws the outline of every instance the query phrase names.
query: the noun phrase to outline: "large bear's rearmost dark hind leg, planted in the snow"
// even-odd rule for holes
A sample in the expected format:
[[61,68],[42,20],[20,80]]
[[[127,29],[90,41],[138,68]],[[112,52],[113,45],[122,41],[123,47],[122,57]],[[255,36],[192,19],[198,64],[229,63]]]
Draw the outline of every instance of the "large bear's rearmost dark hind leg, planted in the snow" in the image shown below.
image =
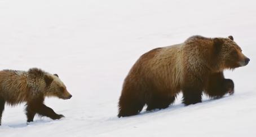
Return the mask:
[[132,94],[122,94],[118,104],[118,117],[127,117],[138,114],[142,111],[145,105],[143,100],[144,99],[140,99],[138,96]]

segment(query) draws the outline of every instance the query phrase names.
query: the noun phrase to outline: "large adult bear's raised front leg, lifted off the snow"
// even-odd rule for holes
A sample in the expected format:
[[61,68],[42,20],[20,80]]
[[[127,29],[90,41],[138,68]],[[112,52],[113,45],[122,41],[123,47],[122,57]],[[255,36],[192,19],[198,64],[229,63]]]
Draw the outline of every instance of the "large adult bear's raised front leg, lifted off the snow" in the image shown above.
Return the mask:
[[225,94],[233,94],[234,83],[231,79],[225,79],[223,72],[212,73],[208,77],[205,93],[211,98],[221,98]]

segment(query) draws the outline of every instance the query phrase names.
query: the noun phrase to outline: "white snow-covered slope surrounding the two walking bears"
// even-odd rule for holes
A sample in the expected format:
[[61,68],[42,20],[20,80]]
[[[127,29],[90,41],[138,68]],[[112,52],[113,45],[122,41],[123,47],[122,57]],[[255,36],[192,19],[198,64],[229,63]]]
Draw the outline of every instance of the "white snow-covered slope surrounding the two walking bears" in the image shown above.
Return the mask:
[[[256,136],[256,2],[0,0],[0,68],[58,73],[73,98],[46,99],[61,120],[26,124],[6,106],[0,136]],[[226,71],[235,94],[117,118],[123,79],[153,48],[232,35],[251,61]]]

